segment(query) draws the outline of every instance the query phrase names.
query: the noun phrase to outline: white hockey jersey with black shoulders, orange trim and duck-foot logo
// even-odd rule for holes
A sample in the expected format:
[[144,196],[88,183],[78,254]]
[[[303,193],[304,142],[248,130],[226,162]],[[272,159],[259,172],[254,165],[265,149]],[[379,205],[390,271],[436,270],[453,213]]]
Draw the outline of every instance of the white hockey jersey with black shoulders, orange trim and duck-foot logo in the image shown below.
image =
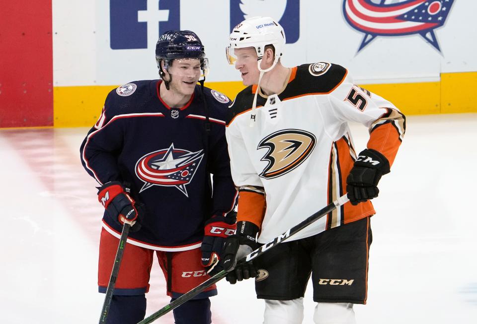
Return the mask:
[[[368,148],[381,152],[392,165],[405,117],[389,101],[353,84],[344,67],[319,62],[292,68],[280,93],[266,96],[258,89],[253,121],[255,91],[256,85],[249,86],[237,95],[226,136],[240,192],[238,220],[261,227],[259,243],[346,194],[346,178],[356,159],[348,121],[369,128]],[[290,240],[374,213],[369,200],[356,206],[346,203]]]

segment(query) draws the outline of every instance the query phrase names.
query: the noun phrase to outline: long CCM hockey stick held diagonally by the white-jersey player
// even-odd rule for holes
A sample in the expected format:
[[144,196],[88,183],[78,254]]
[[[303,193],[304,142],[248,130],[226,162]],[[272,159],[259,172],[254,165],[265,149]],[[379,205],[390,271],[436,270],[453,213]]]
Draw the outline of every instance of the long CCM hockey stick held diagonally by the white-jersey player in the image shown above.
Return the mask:
[[[310,217],[305,219],[300,224],[293,226],[292,228],[290,228],[285,233],[283,233],[283,234],[277,236],[276,238],[274,238],[273,240],[265,243],[260,248],[252,251],[250,254],[243,257],[242,259],[239,259],[239,261],[237,263],[245,263],[245,262],[248,262],[248,261],[251,261],[251,260],[257,258],[258,256],[261,256],[266,251],[268,251],[268,250],[272,249],[273,247],[277,246],[278,244],[283,242],[285,239],[288,239],[289,237],[291,237],[291,236],[295,235],[296,233],[300,232],[302,229],[304,229],[308,225],[316,222],[318,219],[320,219],[321,217],[323,217],[327,213],[333,211],[334,209],[336,209],[337,207],[343,205],[344,203],[346,203],[348,201],[349,201],[349,199],[346,196],[346,194],[342,195],[341,197],[339,197],[338,199],[336,199],[335,201],[333,201],[332,203],[330,203],[329,205],[327,205],[323,209],[318,210],[316,213],[314,213],[313,215],[311,215]],[[189,299],[193,298],[194,296],[198,295],[199,293],[201,293],[202,291],[204,291],[208,287],[212,286],[214,283],[216,283],[220,279],[224,278],[227,275],[228,272],[229,271],[226,271],[226,270],[220,271],[216,275],[210,277],[209,279],[207,279],[206,281],[204,281],[203,283],[201,283],[197,287],[192,288],[191,290],[189,290],[188,292],[186,292],[185,294],[183,294],[182,296],[180,296],[179,298],[174,300],[172,303],[162,307],[159,311],[157,311],[156,313],[152,314],[151,316],[149,316],[148,318],[142,320],[141,322],[139,322],[137,324],[149,324],[149,323],[152,323],[152,322],[156,321],[157,319],[159,319],[159,317],[169,313],[174,308],[179,307],[180,305],[187,302]]]

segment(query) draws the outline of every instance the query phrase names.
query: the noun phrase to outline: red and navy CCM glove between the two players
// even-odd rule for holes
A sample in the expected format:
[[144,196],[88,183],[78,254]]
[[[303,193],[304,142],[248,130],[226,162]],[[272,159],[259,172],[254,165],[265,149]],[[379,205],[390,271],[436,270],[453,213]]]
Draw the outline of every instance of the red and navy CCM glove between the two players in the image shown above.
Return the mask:
[[202,240],[202,265],[207,273],[214,275],[222,271],[221,257],[224,252],[226,238],[237,229],[237,213],[231,212],[226,216],[212,216],[205,222],[204,239]]

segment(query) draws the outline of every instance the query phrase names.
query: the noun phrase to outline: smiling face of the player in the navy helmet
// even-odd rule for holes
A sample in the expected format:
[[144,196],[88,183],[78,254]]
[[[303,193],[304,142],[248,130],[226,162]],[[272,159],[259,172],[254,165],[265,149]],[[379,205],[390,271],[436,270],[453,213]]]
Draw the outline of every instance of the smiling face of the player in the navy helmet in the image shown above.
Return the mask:
[[170,90],[177,94],[190,96],[194,93],[194,88],[201,76],[199,59],[176,59],[170,62],[166,71],[166,80],[172,75],[169,83]]

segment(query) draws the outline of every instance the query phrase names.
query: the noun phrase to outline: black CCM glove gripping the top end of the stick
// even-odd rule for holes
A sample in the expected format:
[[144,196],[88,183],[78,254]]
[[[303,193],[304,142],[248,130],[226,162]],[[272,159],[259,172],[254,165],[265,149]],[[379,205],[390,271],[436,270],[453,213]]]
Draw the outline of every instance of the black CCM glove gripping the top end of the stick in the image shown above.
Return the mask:
[[359,153],[346,179],[346,191],[353,205],[378,196],[381,176],[390,172],[388,159],[380,152],[365,149]]

